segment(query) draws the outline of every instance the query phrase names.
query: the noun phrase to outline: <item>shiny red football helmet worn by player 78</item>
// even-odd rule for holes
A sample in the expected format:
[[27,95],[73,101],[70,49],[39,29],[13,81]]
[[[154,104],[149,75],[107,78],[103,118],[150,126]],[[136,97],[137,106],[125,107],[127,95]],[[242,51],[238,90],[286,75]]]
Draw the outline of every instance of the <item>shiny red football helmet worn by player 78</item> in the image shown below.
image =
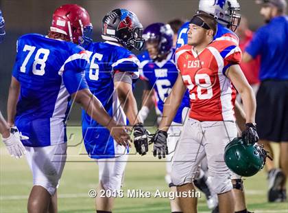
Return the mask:
[[92,30],[90,16],[80,5],[62,5],[53,13],[50,31],[66,35],[73,43],[91,41]]

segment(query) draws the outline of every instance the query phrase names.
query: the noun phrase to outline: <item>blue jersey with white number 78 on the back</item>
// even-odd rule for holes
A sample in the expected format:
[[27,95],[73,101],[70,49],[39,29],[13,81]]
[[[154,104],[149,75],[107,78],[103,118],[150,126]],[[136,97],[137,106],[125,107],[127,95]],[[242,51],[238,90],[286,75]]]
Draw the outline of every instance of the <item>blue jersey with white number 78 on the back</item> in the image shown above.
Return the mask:
[[21,85],[15,125],[29,137],[25,146],[67,142],[70,95],[88,88],[86,67],[88,57],[78,45],[40,34],[19,38],[12,76]]

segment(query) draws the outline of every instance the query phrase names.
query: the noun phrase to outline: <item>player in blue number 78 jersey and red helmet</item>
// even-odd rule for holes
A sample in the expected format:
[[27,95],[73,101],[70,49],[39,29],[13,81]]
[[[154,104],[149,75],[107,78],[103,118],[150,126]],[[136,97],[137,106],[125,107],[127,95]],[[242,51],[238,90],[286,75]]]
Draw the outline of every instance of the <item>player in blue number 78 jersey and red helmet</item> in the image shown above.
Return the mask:
[[29,213],[58,211],[56,190],[67,158],[70,100],[80,103],[93,119],[108,128],[117,143],[129,144],[125,128],[117,126],[89,91],[84,78],[88,56],[77,44],[88,40],[91,31],[84,8],[63,5],[53,13],[48,36],[25,34],[17,41],[8,123],[29,137],[22,141],[34,185],[29,194]]

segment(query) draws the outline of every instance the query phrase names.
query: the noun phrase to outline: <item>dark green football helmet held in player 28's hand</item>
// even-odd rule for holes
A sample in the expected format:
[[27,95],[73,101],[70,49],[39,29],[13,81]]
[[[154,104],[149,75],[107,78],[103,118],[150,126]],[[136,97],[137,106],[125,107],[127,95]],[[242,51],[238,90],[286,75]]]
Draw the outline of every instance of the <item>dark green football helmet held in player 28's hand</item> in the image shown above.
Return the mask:
[[[232,172],[243,177],[255,175],[266,162],[267,151],[259,144],[245,144],[241,137],[235,137],[225,147],[224,160]],[[269,156],[268,156],[269,157]]]

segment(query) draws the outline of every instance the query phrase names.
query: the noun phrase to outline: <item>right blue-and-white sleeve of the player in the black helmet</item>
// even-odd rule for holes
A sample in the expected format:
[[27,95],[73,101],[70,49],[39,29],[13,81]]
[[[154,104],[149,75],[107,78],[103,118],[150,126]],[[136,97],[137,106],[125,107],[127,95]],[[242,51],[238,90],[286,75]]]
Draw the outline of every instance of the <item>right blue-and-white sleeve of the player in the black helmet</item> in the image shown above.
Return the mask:
[[127,71],[132,74],[133,79],[139,78],[139,59],[131,52],[118,51],[115,56],[115,62],[112,63],[114,73],[119,71]]

